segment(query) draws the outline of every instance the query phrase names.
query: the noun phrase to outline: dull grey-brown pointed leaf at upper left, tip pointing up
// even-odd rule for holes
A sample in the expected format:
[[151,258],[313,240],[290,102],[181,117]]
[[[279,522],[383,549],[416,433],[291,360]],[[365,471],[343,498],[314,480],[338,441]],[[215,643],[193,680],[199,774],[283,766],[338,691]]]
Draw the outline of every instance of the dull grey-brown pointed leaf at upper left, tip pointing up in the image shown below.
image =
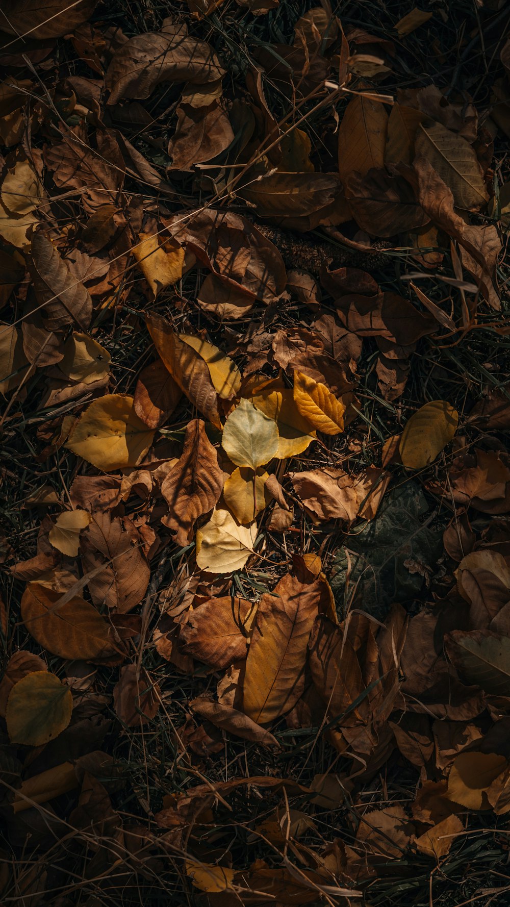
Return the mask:
[[28,266],[37,302],[42,307],[44,327],[54,331],[76,323],[86,330],[92,317],[90,294],[73,277],[44,233],[34,235]]

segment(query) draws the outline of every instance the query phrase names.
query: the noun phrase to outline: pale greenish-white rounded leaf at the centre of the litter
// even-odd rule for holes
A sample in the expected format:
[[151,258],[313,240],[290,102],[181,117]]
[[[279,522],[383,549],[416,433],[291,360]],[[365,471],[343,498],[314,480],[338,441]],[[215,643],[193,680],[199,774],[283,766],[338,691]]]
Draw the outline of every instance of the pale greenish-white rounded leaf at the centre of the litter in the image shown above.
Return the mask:
[[255,470],[276,456],[278,445],[276,422],[243,398],[230,413],[221,437],[221,446],[232,463]]

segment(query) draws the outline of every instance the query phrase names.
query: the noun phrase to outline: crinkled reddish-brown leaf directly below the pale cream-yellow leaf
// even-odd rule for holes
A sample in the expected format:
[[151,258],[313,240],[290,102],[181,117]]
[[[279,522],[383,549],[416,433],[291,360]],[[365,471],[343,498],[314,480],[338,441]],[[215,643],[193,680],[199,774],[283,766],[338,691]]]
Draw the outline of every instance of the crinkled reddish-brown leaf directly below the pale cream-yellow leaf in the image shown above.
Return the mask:
[[245,623],[252,606],[229,595],[204,602],[181,624],[181,649],[212,668],[228,668],[246,657],[248,632]]

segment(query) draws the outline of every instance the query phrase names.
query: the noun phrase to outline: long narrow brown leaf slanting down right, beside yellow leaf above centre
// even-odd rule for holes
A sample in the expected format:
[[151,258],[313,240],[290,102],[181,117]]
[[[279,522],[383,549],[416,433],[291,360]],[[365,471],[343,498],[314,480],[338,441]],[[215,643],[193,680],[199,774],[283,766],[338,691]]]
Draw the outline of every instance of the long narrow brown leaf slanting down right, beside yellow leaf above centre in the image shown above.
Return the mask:
[[190,344],[184,343],[164,318],[147,315],[146,321],[154,346],[182,393],[206,419],[221,428],[218,396],[205,360]]

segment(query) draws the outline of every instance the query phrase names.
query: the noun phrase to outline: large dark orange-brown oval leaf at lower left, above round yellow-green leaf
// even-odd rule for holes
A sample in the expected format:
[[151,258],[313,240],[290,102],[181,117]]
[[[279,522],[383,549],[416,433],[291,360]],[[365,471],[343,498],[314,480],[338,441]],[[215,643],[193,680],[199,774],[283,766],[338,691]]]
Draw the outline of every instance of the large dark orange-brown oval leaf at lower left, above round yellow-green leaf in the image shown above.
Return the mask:
[[23,593],[21,616],[34,639],[60,658],[106,658],[118,649],[115,634],[88,601],[74,596],[64,605],[61,592],[31,582]]

